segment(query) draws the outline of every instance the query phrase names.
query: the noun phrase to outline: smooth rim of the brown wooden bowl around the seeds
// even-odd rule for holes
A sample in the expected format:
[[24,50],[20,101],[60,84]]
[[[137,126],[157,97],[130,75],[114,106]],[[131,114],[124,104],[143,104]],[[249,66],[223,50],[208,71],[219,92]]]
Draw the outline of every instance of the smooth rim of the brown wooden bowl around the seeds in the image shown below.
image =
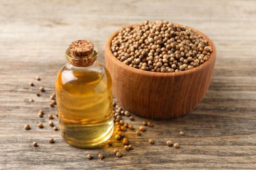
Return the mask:
[[[141,24],[141,23],[138,23],[138,24]],[[187,25],[176,24],[176,23],[173,23],[173,24],[174,25],[178,25],[179,27],[187,27],[188,29],[191,29],[192,31],[198,33],[198,35],[201,35],[203,37],[203,39],[208,41],[208,45],[211,46],[212,52],[211,52],[211,55],[209,56],[209,59],[207,61],[205,61],[204,63],[202,63],[198,67],[194,67],[192,69],[188,69],[188,70],[185,70],[185,71],[172,72],[172,73],[160,73],[160,72],[144,71],[144,70],[140,70],[140,69],[131,67],[131,66],[123,63],[119,59],[117,59],[114,56],[114,54],[113,54],[113,52],[111,50],[112,40],[114,39],[114,37],[116,37],[116,35],[119,33],[119,31],[121,29],[118,29],[117,31],[112,33],[112,35],[110,35],[110,37],[108,38],[108,40],[106,42],[106,46],[105,46],[105,59],[108,56],[107,54],[111,54],[111,58],[114,58],[113,61],[115,63],[119,64],[121,67],[123,67],[123,69],[129,71],[129,73],[135,73],[135,74],[145,75],[145,76],[160,76],[160,77],[185,76],[185,75],[188,75],[188,74],[190,74],[192,72],[197,72],[197,71],[203,70],[203,69],[205,69],[205,67],[208,67],[211,64],[211,61],[215,61],[215,58],[216,58],[215,44],[213,44],[213,41],[211,41],[211,39],[209,37],[207,37],[207,35],[205,35],[201,31],[198,31],[197,29],[194,29],[193,27],[189,27]],[[133,25],[137,25],[137,24],[127,25],[127,26],[125,26],[123,28],[132,27]]]

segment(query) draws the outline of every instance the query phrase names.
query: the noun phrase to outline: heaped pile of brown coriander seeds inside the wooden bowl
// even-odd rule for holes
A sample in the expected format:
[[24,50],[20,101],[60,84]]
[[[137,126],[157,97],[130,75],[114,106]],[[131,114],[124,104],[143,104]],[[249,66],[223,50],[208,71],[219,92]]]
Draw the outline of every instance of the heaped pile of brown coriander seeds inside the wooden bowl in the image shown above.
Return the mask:
[[202,35],[167,21],[124,27],[112,40],[111,50],[117,59],[131,67],[161,73],[198,67],[212,52]]

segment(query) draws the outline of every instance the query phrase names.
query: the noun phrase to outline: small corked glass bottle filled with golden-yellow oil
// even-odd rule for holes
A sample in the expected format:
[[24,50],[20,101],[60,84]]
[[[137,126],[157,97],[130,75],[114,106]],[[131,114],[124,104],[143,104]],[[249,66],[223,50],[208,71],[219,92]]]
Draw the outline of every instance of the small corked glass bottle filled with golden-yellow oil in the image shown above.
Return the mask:
[[100,144],[113,133],[112,80],[97,57],[92,42],[72,42],[66,50],[69,63],[55,83],[62,138],[79,148]]

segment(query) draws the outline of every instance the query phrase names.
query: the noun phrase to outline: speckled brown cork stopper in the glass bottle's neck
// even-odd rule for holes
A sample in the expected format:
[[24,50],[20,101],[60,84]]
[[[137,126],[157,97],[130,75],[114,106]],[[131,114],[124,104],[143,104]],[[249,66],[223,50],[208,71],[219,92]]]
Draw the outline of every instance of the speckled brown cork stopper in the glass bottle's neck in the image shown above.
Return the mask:
[[87,40],[77,40],[70,44],[70,54],[74,58],[90,56],[93,53],[93,42]]

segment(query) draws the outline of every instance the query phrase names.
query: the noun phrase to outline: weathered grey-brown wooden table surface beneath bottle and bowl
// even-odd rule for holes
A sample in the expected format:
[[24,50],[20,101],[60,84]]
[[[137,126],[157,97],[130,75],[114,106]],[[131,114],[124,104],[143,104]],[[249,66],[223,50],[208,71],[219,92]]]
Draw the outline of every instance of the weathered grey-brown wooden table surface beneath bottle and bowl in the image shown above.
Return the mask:
[[[256,169],[255,1],[9,0],[1,1],[0,9],[0,169]],[[123,150],[114,137],[113,146],[79,149],[66,144],[47,119],[56,112],[49,96],[67,62],[66,48],[74,40],[89,39],[104,62],[108,37],[144,20],[189,25],[213,40],[217,61],[203,101],[186,116],[150,120],[154,127],[141,136],[126,131],[134,150]],[[41,81],[35,80],[37,75]],[[40,86],[46,92],[37,97]],[[37,116],[40,109],[43,118]],[[133,125],[139,127],[142,120],[148,119],[135,116]],[[38,122],[45,127],[39,129]],[[53,122],[58,126],[58,118]],[[24,124],[32,129],[26,131]],[[49,137],[56,142],[48,143]],[[148,143],[151,138],[155,144]],[[167,140],[181,147],[165,146]],[[33,141],[39,146],[33,147]],[[122,158],[114,156],[114,148]],[[96,158],[100,152],[103,160]],[[88,160],[87,153],[94,159]]]

